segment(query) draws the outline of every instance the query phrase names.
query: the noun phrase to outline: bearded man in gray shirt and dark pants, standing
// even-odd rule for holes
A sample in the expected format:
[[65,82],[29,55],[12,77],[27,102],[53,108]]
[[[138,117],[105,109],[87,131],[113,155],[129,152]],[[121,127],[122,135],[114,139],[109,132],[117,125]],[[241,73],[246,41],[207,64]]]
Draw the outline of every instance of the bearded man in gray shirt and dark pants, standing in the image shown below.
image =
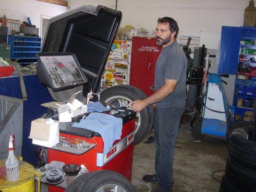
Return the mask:
[[141,111],[147,105],[156,106],[154,124],[156,174],[143,180],[158,182],[154,192],[171,192],[173,186],[173,155],[180,120],[186,101],[187,58],[175,40],[179,27],[170,17],[158,19],[157,44],[162,46],[155,70],[155,93],[143,100],[135,100],[132,109]]

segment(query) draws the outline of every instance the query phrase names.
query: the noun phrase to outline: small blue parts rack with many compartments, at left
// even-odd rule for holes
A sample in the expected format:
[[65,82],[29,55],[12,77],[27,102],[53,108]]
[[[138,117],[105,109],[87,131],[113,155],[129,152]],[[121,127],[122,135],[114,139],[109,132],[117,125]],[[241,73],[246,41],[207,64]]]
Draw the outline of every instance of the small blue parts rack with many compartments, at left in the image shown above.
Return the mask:
[[12,59],[36,60],[41,49],[41,37],[8,36],[8,45],[11,45]]

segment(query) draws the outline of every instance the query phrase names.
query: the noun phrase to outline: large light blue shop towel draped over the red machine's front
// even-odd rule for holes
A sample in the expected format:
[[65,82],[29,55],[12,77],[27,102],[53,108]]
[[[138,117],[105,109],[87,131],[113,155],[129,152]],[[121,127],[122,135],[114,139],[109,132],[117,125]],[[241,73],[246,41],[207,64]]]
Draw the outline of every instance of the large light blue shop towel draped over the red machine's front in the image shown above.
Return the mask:
[[113,142],[121,138],[122,119],[104,113],[91,113],[85,120],[73,123],[73,127],[98,132],[104,141],[103,155],[105,155]]

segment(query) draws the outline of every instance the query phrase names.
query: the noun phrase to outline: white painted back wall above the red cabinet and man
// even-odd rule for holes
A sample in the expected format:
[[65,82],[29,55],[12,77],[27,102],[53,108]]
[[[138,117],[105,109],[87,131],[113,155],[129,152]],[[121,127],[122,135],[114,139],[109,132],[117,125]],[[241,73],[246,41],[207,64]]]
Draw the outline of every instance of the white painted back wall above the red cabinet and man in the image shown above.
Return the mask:
[[[68,0],[71,9],[81,5],[115,8],[115,0]],[[148,31],[156,28],[158,17],[173,17],[180,35],[200,36],[200,46],[217,49],[221,26],[242,26],[249,0],[117,0],[122,12],[120,26],[132,24]]]

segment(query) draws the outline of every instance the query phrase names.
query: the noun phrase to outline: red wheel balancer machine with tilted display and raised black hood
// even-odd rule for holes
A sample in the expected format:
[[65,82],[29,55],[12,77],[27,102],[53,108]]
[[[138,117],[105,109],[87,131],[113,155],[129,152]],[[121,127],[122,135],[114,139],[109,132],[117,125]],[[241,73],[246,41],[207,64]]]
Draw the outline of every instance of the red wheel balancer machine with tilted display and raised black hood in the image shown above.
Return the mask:
[[[86,95],[90,90],[97,91],[120,20],[121,12],[103,6],[82,6],[50,19],[43,53],[37,54],[37,75],[40,82],[50,88],[55,100],[67,101],[77,87]],[[58,121],[57,113],[48,109],[48,116]],[[112,108],[104,113],[122,118],[121,138],[114,141],[107,153],[103,152],[105,143],[98,132],[73,127],[86,116],[83,114],[72,118],[72,122],[60,122],[60,138],[70,143],[49,147],[48,163],[83,164],[89,172],[113,170],[131,181],[136,113],[125,108]],[[80,141],[83,141],[81,147],[72,143]],[[51,184],[49,192],[63,192],[67,187],[62,176],[54,178],[53,175],[45,181]]]

